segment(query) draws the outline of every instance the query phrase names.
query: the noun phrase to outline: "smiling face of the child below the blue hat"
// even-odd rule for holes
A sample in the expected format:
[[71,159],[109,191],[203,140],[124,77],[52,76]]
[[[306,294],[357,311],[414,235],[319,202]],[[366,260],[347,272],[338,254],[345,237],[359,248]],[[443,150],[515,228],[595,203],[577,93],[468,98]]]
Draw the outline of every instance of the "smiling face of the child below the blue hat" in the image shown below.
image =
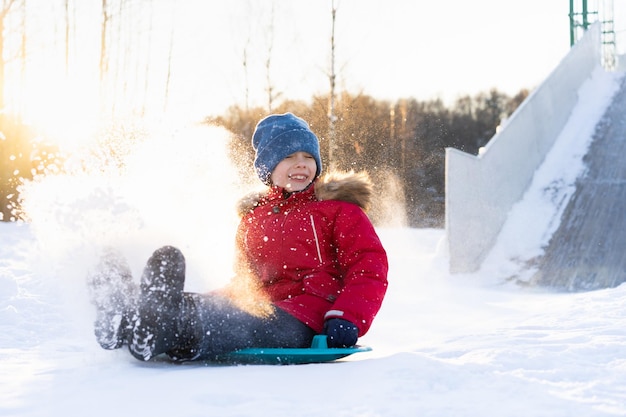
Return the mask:
[[317,171],[315,158],[307,152],[296,152],[280,161],[272,172],[272,184],[289,192],[304,190]]

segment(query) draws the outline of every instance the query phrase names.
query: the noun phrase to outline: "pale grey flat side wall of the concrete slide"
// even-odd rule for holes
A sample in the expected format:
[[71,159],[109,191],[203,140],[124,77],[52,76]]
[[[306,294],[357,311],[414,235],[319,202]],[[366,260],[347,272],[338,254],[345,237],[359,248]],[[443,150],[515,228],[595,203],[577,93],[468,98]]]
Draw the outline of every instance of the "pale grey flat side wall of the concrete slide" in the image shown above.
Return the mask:
[[[521,199],[576,107],[581,85],[600,62],[600,25],[596,23],[483,152],[475,156],[446,149],[446,238],[451,272],[471,273],[480,268],[509,211]],[[623,108],[618,109],[617,116],[620,111],[624,114]],[[538,281],[545,283],[544,278],[538,277]]]

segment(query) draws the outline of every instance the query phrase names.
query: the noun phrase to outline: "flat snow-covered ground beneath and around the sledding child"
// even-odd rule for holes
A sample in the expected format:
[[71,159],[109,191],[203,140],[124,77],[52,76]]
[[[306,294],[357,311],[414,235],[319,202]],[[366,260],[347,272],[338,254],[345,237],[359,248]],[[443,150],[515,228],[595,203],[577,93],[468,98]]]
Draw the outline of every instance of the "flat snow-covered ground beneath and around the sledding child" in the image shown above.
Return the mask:
[[[626,410],[626,287],[583,294],[447,276],[440,230],[381,230],[391,287],[374,348],[336,364],[141,363],[107,352],[1,225],[0,415],[604,416]],[[10,245],[10,246],[9,246]],[[52,287],[52,288],[50,288]]]

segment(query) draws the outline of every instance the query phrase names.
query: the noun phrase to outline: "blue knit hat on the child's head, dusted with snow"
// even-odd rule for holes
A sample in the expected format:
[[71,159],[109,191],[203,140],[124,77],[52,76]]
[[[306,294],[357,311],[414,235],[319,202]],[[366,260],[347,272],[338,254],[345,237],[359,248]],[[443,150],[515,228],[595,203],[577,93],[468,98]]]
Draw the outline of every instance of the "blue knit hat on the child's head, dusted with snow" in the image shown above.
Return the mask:
[[252,147],[256,152],[254,168],[264,184],[270,185],[270,177],[276,165],[296,152],[307,152],[317,164],[317,178],[322,172],[320,144],[307,122],[291,113],[272,114],[261,120],[252,135]]

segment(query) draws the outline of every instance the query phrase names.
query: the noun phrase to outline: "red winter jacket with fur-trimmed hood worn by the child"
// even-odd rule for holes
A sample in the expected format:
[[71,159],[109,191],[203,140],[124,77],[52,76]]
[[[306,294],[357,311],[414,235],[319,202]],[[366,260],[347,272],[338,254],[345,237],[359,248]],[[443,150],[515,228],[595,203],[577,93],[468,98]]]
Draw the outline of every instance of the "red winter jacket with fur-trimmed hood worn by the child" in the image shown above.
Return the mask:
[[273,187],[245,210],[237,232],[242,260],[277,307],[316,332],[340,317],[370,328],[387,290],[387,255],[364,208],[361,174],[318,179],[286,196]]

